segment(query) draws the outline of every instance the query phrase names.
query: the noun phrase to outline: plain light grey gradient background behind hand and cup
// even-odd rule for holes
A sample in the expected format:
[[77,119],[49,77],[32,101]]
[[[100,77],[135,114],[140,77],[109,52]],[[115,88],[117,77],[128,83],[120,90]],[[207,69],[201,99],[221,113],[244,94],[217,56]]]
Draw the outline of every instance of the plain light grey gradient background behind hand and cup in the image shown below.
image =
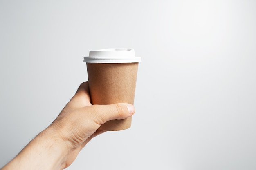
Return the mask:
[[256,1],[0,0],[0,166],[87,80],[90,50],[142,57],[132,127],[68,170],[255,170]]

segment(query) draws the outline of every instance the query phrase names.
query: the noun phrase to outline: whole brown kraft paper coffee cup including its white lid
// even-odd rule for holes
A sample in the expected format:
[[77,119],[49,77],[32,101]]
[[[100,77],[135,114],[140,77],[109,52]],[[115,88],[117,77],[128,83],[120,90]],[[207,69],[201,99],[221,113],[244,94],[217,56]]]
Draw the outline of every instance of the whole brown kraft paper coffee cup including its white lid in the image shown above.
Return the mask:
[[[133,49],[102,49],[84,57],[92,104],[134,104],[138,63]],[[115,131],[130,128],[132,117],[111,120],[99,130]]]

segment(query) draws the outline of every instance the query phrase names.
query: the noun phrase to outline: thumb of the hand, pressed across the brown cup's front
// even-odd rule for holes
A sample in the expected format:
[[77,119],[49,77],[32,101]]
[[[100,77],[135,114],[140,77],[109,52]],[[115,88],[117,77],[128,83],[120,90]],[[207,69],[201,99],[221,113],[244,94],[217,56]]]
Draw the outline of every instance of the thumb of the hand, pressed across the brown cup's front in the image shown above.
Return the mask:
[[92,105],[97,123],[104,124],[109,120],[121,120],[132,116],[135,107],[132,104],[118,103],[108,105]]

